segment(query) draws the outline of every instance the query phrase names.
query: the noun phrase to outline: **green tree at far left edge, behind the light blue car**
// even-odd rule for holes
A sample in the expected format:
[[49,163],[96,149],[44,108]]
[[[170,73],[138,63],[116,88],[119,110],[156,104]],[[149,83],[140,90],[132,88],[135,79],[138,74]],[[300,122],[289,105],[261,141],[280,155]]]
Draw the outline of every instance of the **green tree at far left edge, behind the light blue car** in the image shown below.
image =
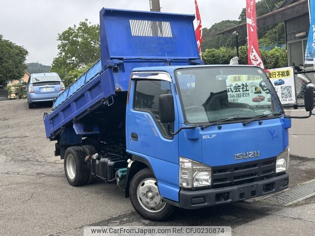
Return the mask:
[[25,63],[28,51],[22,46],[3,39],[0,34],[0,85],[7,81],[19,80],[27,68]]

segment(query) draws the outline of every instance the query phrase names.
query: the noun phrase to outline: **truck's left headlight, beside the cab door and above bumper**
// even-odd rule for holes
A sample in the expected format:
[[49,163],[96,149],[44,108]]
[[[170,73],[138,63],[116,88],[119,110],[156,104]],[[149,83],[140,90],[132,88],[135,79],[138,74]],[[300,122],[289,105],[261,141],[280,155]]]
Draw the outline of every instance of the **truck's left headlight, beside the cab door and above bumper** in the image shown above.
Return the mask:
[[179,158],[179,183],[180,187],[192,188],[211,185],[210,166],[180,157]]

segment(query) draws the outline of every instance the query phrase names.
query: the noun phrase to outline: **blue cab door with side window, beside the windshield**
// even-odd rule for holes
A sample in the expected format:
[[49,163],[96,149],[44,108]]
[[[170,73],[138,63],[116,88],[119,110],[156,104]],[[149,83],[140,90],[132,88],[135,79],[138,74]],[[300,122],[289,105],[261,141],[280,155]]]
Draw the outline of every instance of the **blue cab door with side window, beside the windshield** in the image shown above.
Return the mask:
[[[168,125],[159,120],[159,96],[174,94],[171,77],[164,72],[134,73],[126,114],[127,152],[151,166],[161,196],[178,201],[178,136],[170,135]],[[175,99],[174,99],[175,101]],[[178,128],[176,103],[175,122]],[[175,127],[174,127],[175,126]]]

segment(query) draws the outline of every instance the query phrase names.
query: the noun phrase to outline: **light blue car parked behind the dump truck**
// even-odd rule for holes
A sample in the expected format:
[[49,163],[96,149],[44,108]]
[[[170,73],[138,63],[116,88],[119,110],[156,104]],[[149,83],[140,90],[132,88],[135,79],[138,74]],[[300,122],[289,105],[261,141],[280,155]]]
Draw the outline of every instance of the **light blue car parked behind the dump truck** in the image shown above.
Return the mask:
[[31,74],[26,86],[29,108],[33,108],[34,103],[53,101],[64,89],[57,73]]

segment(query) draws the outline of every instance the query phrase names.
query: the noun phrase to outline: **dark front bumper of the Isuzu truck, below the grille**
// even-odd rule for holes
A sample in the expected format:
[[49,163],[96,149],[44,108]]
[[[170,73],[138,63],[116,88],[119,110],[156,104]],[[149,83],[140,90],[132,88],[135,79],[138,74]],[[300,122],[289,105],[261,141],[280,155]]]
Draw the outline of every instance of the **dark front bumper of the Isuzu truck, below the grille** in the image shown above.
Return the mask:
[[[283,174],[260,181],[216,189],[179,192],[179,207],[195,209],[233,203],[284,190],[289,185],[289,175]],[[178,205],[177,205],[178,206]]]

